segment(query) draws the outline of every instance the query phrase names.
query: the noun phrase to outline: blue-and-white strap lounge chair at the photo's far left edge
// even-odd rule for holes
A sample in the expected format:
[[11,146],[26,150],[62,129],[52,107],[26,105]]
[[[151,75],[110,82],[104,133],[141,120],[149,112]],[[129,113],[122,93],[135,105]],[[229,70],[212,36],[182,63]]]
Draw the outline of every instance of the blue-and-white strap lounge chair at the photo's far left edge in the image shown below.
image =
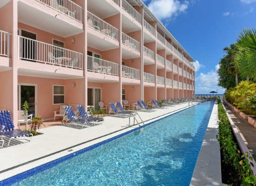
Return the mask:
[[24,140],[27,140],[25,137],[29,137],[31,135],[31,138],[27,140],[30,141],[33,137],[32,133],[27,133],[25,131],[15,129],[10,111],[0,112],[0,134],[10,139],[8,141],[7,147],[10,145],[10,141],[13,139],[24,137]]

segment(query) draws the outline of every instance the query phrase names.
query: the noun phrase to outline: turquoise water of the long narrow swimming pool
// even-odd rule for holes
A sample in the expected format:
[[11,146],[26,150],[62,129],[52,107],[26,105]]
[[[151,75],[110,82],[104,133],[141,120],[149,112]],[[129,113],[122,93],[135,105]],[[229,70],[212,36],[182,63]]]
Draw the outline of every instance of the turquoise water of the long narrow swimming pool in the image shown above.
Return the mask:
[[14,186],[189,186],[213,105],[193,106]]

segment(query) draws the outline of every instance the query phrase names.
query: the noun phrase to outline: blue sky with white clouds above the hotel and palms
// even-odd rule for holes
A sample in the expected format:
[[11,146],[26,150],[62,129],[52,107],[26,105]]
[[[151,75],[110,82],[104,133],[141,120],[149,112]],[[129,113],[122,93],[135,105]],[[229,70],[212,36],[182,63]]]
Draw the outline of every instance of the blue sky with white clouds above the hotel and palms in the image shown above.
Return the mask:
[[243,29],[256,27],[256,0],[143,2],[195,60],[195,94],[223,94],[216,73],[223,48],[235,43]]

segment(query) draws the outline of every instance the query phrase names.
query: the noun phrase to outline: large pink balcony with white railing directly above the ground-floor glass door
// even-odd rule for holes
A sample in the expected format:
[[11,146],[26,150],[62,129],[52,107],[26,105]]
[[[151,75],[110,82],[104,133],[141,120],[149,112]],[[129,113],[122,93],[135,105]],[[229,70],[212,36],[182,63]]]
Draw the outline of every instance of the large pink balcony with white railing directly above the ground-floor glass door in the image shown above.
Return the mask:
[[83,76],[82,53],[23,36],[18,36],[18,48],[20,48],[18,51],[19,74],[56,78],[59,73],[67,73],[62,74],[61,78],[64,79],[70,78],[70,75],[73,77],[76,75]]

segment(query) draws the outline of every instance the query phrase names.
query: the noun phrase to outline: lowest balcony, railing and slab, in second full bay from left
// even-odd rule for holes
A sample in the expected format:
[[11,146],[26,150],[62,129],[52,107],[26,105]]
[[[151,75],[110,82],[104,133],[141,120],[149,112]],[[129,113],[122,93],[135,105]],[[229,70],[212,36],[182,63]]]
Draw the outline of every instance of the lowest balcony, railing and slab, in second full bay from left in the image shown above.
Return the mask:
[[[88,80],[92,82],[119,81],[119,64],[87,56]],[[97,74],[97,75],[96,75]]]

